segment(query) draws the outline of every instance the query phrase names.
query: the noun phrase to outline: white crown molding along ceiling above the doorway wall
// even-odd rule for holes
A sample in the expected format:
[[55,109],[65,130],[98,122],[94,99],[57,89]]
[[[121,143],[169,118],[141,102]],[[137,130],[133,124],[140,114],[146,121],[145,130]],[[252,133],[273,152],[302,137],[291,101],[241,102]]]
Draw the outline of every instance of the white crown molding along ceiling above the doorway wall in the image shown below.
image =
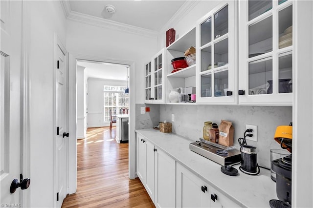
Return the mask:
[[136,35],[141,36],[148,36],[148,37],[157,37],[158,32],[154,30],[145,29],[142,27],[136,27],[133,25],[112,21],[112,20],[106,20],[86,14],[82,14],[75,11],[70,11],[70,13],[67,15],[67,20],[71,21],[77,21],[81,23],[85,23],[88,25],[93,25],[97,27],[104,27],[109,29],[115,29],[122,32],[128,32]]

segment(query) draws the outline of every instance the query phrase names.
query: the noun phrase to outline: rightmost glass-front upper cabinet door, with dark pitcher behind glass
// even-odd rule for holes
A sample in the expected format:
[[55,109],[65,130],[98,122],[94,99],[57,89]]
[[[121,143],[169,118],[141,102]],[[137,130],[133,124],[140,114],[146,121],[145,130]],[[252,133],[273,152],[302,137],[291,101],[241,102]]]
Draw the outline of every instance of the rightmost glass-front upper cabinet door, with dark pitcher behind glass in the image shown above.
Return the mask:
[[239,1],[239,104],[292,105],[292,1]]

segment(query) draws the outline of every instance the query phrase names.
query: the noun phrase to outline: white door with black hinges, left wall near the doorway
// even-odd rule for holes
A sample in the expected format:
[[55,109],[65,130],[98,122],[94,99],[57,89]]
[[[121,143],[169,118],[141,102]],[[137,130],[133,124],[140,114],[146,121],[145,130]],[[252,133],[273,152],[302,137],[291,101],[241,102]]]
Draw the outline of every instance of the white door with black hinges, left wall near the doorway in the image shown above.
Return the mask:
[[68,145],[68,108],[67,108],[67,67],[65,53],[57,48],[56,83],[56,207],[62,206],[67,195],[67,145]]

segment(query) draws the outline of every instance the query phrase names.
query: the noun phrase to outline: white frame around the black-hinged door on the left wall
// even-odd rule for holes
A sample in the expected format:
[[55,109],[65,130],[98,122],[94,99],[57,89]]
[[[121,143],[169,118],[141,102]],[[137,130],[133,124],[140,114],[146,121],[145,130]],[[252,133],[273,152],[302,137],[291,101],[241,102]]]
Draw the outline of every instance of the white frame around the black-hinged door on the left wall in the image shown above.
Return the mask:
[[[64,46],[64,44],[62,43],[62,41],[61,41],[61,39],[58,37],[58,35],[56,34],[56,33],[54,33],[54,66],[53,66],[53,69],[56,69],[57,68],[57,62],[56,62],[56,58],[58,57],[58,50],[61,50],[61,52],[64,54],[64,72],[65,72],[65,83],[66,83],[66,89],[65,89],[65,91],[67,91],[67,93],[68,93],[68,88],[69,88],[69,70],[68,70],[68,58],[67,58],[67,55],[68,55],[68,53],[67,53],[67,49],[66,49],[66,47]],[[56,104],[56,100],[57,100],[57,86],[56,86],[56,84],[57,84],[57,70],[55,70],[54,71],[54,73],[53,73],[53,84],[54,84],[54,86],[53,86],[53,115],[54,115],[54,117],[53,117],[53,126],[54,126],[54,129],[55,129],[55,131],[54,131],[54,136],[53,136],[53,180],[54,180],[54,186],[53,186],[53,205],[54,205],[54,207],[56,207],[56,203],[57,203],[57,200],[56,200],[56,198],[57,198],[57,196],[56,196],[56,193],[58,192],[58,184],[56,183],[57,182],[57,176],[58,176],[58,173],[57,173],[57,165],[58,165],[58,161],[56,161],[56,152],[57,152],[57,144],[56,144],[56,137],[57,137],[57,123],[56,123],[56,121],[57,121],[57,115],[56,115],[56,112],[57,112],[57,104]],[[66,106],[66,108],[67,108],[67,128],[69,129],[69,101],[68,101],[68,98],[69,98],[69,96],[68,96],[68,94],[67,94],[67,98],[66,98],[66,100],[67,100],[67,106]],[[68,129],[65,129],[65,130],[67,130],[67,132],[69,132],[68,131]],[[69,136],[70,136],[70,134],[69,134]],[[68,139],[66,140],[66,143],[67,143],[67,153],[66,153],[66,155],[67,155],[67,158],[66,158],[66,163],[67,163],[67,169],[66,169],[66,175],[67,175],[67,177],[66,177],[66,180],[67,180],[67,189],[66,189],[66,192],[68,193],[68,172],[69,172],[69,170],[68,170],[68,162],[69,162],[69,160],[68,160],[68,144],[69,144],[69,139],[70,139],[71,137],[68,137]]]

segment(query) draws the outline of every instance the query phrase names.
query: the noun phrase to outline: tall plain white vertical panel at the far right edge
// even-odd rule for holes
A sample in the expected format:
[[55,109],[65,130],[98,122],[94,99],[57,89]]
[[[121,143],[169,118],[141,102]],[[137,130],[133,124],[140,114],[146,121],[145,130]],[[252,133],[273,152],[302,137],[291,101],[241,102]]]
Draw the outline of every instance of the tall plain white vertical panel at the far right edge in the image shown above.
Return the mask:
[[[313,1],[293,1],[292,207],[313,207]],[[308,197],[309,196],[309,197]]]

